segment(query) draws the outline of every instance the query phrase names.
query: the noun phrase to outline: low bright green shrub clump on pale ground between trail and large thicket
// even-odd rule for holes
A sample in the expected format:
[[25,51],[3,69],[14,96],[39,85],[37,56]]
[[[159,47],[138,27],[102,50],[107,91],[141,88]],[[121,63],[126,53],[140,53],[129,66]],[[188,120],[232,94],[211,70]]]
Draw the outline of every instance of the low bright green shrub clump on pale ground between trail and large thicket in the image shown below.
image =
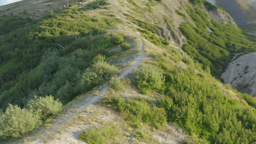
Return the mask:
[[156,107],[152,104],[152,101],[147,99],[131,98],[125,101],[123,98],[114,97],[103,100],[103,103],[117,107],[121,115],[134,128],[140,128],[143,123],[155,128],[161,128],[167,122],[164,109]]

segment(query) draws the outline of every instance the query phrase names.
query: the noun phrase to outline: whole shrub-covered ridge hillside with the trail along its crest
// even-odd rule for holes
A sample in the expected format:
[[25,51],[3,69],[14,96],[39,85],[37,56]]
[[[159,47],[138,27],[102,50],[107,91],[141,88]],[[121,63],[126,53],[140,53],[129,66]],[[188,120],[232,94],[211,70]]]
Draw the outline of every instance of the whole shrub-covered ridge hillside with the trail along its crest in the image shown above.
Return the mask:
[[[256,139],[255,98],[212,76],[236,53],[255,52],[255,41],[210,3],[90,0],[39,20],[0,22],[3,143]],[[53,95],[62,111],[43,113],[53,107],[44,99],[37,107],[34,95]],[[22,121],[29,117],[33,128]]]

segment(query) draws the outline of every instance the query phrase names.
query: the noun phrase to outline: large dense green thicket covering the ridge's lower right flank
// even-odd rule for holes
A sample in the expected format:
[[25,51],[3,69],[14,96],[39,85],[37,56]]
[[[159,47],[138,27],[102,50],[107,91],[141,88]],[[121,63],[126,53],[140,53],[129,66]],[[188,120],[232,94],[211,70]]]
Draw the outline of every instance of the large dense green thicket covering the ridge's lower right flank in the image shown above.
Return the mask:
[[255,140],[255,109],[230,99],[207,77],[196,75],[194,69],[167,70],[163,87],[166,96],[158,100],[158,105],[166,110],[168,121],[189,134],[211,143]]

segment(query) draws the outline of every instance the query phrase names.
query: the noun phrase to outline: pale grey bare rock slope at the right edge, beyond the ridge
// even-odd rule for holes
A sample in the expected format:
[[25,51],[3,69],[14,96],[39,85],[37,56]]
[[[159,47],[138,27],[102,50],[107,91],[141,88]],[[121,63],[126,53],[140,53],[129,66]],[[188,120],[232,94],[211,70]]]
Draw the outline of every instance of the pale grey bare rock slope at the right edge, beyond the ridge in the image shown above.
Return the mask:
[[230,83],[238,91],[256,95],[256,52],[237,58],[222,74],[225,83]]

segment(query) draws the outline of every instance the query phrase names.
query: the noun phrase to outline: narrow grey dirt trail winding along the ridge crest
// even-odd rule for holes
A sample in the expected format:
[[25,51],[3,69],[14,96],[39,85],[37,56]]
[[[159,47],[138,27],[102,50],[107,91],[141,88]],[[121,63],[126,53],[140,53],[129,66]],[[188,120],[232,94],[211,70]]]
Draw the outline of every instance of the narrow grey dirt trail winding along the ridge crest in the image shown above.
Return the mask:
[[[124,28],[122,27],[122,29],[124,30]],[[138,37],[139,38],[139,37]],[[138,60],[135,64],[133,64],[129,69],[125,70],[123,74],[121,74],[119,76],[119,78],[123,78],[124,76],[126,76],[127,74],[131,73],[131,71],[135,68],[138,67],[138,65],[142,62],[142,59],[144,58],[145,56],[145,50],[144,50],[144,47],[145,47],[145,42],[142,38],[139,38],[141,39],[142,41],[142,45],[141,45],[141,55],[139,55],[138,57]],[[90,95],[88,98],[86,98],[84,100],[84,102],[82,102],[82,104],[79,104],[81,105],[82,107],[80,107],[77,111],[73,112],[71,115],[69,115],[68,117],[65,118],[65,120],[63,120],[62,122],[54,125],[53,128],[51,128],[49,131],[47,131],[42,137],[40,137],[40,139],[38,140],[35,140],[35,141],[31,141],[30,143],[43,143],[44,139],[46,137],[48,137],[49,135],[53,134],[55,130],[57,130],[58,128],[60,128],[62,125],[66,124],[69,120],[71,120],[75,115],[77,115],[77,113],[83,111],[86,107],[88,107],[89,105],[91,104],[94,104],[96,103],[97,101],[100,101],[101,99],[101,95],[108,91],[110,86],[106,86],[104,88],[101,89],[100,93],[98,95],[96,95],[95,97],[92,97],[92,95]],[[61,120],[60,120],[61,121]]]

